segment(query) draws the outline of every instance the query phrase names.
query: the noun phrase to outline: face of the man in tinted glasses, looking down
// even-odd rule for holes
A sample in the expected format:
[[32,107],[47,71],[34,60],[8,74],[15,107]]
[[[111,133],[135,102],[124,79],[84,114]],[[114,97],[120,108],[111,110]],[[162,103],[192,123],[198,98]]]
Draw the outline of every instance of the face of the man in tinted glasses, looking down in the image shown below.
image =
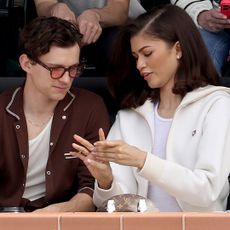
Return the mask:
[[[49,68],[75,66],[79,64],[80,48],[78,44],[61,48],[52,46],[49,53],[39,57],[39,61]],[[26,85],[33,90],[35,97],[45,100],[62,100],[70,89],[74,78],[66,71],[62,77],[54,79],[51,72],[39,63],[32,65],[31,71],[27,73]],[[37,95],[37,96],[36,96]]]

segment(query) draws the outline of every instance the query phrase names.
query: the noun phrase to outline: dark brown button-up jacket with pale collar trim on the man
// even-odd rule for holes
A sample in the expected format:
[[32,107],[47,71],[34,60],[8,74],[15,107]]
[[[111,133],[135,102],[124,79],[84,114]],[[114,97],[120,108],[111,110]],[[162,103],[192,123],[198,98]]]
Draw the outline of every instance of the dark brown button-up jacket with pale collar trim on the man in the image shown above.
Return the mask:
[[[24,206],[27,210],[69,200],[76,193],[92,196],[94,179],[79,159],[66,160],[73,135],[90,142],[98,129],[108,132],[109,118],[103,100],[83,89],[71,89],[55,109],[46,165],[46,196],[23,199],[28,166],[28,133],[23,111],[23,88],[0,95],[0,207]],[[41,159],[42,160],[42,159]]]

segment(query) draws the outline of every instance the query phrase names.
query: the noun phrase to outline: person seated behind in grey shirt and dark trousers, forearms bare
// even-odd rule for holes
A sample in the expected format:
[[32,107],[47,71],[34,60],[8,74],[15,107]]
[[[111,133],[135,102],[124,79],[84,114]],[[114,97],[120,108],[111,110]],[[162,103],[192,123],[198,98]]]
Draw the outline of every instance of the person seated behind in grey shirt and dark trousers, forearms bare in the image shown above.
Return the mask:
[[56,16],[76,23],[83,34],[81,58],[87,69],[105,75],[117,29],[145,10],[138,0],[34,0],[41,16]]

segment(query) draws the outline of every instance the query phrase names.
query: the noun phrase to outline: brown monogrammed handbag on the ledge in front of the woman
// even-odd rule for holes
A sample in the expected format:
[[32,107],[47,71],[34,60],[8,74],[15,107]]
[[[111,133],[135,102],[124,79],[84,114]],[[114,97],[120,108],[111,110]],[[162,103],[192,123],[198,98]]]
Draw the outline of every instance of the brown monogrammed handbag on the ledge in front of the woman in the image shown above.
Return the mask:
[[153,202],[135,194],[113,196],[103,202],[98,212],[156,212],[159,211]]

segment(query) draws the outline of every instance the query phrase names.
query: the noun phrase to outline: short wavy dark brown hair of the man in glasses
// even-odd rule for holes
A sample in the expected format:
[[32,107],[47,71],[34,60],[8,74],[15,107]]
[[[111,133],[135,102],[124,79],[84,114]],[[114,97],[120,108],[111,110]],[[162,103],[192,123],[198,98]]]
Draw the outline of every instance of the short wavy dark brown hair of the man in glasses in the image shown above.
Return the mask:
[[77,26],[57,17],[37,17],[20,33],[19,48],[36,61],[49,52],[51,46],[71,47],[81,45],[82,35]]

